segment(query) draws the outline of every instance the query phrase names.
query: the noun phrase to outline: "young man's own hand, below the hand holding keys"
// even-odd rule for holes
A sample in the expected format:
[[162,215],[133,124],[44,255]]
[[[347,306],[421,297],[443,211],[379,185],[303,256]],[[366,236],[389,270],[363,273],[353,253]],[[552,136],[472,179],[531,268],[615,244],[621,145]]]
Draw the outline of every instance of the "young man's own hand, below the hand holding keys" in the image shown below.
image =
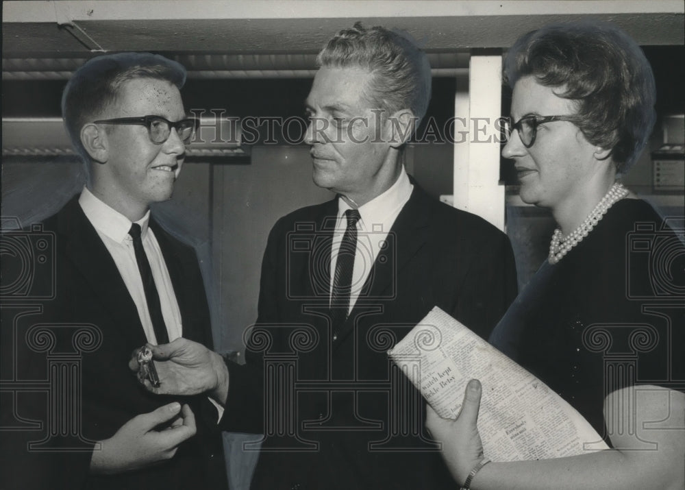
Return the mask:
[[[173,419],[173,420],[172,420]],[[166,428],[160,425],[166,423]],[[137,415],[110,439],[100,441],[90,460],[93,474],[116,474],[173,458],[178,445],[194,436],[195,415],[177,402]]]

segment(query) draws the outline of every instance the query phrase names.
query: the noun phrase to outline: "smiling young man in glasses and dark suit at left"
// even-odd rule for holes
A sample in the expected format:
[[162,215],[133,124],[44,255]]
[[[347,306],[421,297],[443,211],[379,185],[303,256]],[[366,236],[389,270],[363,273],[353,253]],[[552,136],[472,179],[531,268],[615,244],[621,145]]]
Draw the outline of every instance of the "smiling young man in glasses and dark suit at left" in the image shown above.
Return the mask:
[[[55,326],[58,343],[71,341],[61,338],[69,329],[60,326],[92,326],[100,345],[82,354],[76,373],[77,434],[53,437],[50,452],[17,446],[16,463],[3,469],[8,488],[227,487],[221,433],[212,430],[218,416],[208,398],[154,397],[126,365],[146,342],[184,336],[212,347],[195,252],[149,210],[171,197],[197,128],[179,92],[185,79],[183,66],[162,56],[119,53],[88,61],[64,89],[64,123],[88,182],[43,223],[55,236],[55,298],[31,323]],[[19,334],[16,343],[21,349]],[[19,363],[33,363],[36,376],[41,369],[45,376],[45,354],[20,354]],[[40,406],[45,402],[19,397],[16,415],[47,420]],[[47,425],[65,424],[64,416]]]

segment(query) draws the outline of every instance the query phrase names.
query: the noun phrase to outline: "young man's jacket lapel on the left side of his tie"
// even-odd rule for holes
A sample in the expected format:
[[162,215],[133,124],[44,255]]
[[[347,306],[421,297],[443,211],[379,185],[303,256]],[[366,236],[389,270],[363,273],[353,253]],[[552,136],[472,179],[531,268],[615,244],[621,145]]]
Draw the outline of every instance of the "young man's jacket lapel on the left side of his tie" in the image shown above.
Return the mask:
[[105,244],[92,227],[75,197],[64,207],[58,221],[65,253],[88,286],[114,319],[118,332],[134,345],[146,342],[138,310]]

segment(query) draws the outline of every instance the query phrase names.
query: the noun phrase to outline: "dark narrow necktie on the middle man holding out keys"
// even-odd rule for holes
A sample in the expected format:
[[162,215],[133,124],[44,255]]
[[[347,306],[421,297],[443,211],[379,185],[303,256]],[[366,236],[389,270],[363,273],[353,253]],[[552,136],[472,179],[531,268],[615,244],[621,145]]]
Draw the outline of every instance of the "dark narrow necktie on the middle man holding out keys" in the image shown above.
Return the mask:
[[361,216],[356,209],[345,211],[347,229],[343,234],[343,241],[338,250],[336,271],[333,276],[333,289],[331,293],[331,324],[334,340],[340,328],[347,320],[349,310],[349,297],[352,289],[352,271],[354,269],[354,256],[357,252],[357,221]]

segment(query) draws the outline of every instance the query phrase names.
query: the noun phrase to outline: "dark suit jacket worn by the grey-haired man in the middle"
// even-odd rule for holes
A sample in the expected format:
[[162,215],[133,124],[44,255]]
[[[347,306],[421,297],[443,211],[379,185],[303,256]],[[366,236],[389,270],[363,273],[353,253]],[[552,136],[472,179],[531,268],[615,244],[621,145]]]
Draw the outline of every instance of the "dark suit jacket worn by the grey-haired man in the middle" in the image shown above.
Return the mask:
[[268,436],[253,488],[454,488],[425,433],[425,402],[386,352],[436,305],[487,339],[516,295],[508,238],[414,185],[334,335],[328,305],[337,210],[336,200],[302,208],[271,230],[258,326],[247,365],[229,365],[222,424]]

